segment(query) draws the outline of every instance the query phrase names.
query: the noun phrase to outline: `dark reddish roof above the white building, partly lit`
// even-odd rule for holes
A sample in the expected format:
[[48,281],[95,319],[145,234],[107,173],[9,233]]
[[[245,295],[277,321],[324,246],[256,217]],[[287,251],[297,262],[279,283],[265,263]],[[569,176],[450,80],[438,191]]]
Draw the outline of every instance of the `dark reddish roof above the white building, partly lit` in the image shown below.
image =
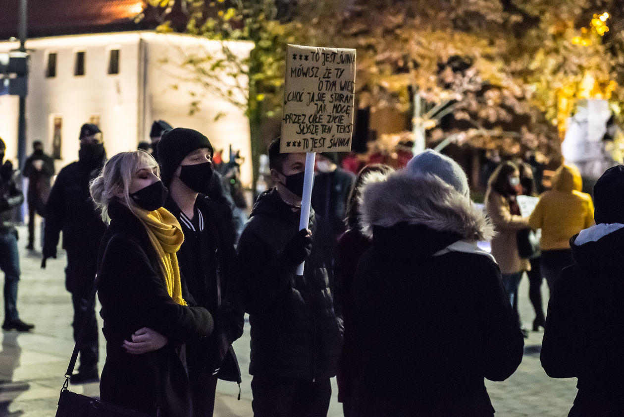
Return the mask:
[[[19,3],[20,0],[2,1],[0,40],[19,37]],[[144,9],[142,0],[29,0],[27,36],[39,38],[155,28],[154,18],[134,21]]]

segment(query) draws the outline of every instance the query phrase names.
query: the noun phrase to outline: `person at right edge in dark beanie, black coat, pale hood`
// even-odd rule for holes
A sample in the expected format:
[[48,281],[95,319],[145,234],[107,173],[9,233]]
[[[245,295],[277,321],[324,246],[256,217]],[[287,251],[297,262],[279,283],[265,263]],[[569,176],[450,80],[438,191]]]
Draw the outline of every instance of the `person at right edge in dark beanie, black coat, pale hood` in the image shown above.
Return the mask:
[[540,359],[552,378],[577,378],[568,417],[624,415],[624,166],[593,188],[595,226],[570,239],[574,263],[550,294]]

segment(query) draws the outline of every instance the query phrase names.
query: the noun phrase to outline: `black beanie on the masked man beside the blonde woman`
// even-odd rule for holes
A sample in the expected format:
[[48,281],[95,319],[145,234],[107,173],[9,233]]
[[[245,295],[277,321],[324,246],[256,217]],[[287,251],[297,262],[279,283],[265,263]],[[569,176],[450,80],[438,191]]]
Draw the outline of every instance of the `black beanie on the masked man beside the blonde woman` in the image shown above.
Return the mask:
[[210,149],[211,155],[215,153],[208,138],[196,130],[175,128],[162,134],[158,141],[158,159],[160,159],[160,176],[165,186],[171,183],[173,173],[182,163],[182,159],[200,148]]

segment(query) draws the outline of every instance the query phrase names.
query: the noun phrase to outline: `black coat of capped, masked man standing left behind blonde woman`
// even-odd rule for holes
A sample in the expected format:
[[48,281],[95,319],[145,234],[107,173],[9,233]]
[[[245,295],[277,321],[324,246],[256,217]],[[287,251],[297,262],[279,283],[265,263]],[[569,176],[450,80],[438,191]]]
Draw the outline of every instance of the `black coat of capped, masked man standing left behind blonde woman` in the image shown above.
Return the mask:
[[[89,194],[89,182],[99,174],[103,165],[104,160],[96,168],[87,168],[77,161],[61,169],[46,204],[45,257],[56,256],[56,246],[62,231],[64,249],[74,251],[81,258],[95,263],[106,226]],[[84,283],[67,282],[67,289],[74,291],[89,288],[91,279],[89,277],[89,281]]]

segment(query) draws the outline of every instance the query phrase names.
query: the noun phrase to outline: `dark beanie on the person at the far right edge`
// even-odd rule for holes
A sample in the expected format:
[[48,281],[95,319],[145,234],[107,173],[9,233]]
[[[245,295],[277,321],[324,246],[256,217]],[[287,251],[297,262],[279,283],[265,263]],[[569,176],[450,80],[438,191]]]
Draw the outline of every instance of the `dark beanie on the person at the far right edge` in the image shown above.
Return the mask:
[[607,169],[593,186],[596,223],[624,223],[624,165]]

